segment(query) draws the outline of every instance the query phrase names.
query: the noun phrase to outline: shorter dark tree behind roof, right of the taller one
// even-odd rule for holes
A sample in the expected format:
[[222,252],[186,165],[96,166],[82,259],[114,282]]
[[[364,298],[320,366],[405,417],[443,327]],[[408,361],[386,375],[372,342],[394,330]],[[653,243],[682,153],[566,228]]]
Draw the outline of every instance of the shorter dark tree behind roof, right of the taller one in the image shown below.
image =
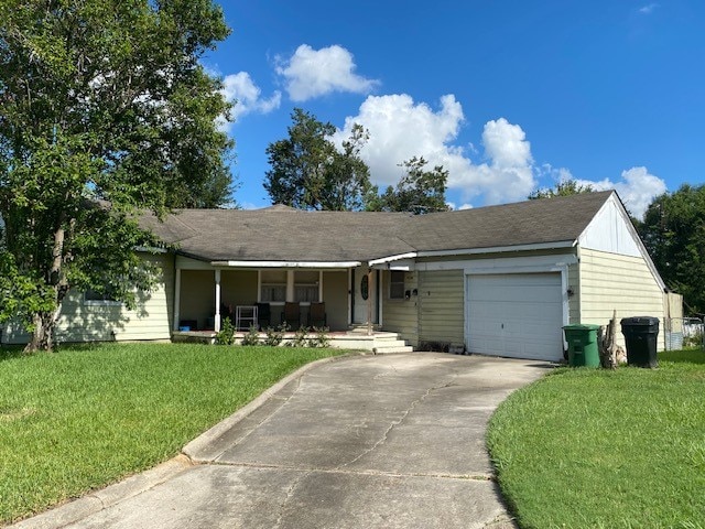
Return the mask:
[[429,162],[413,156],[400,164],[405,174],[400,179],[397,187],[389,186],[384,193],[372,199],[368,206],[378,212],[413,212],[430,213],[445,212],[445,190],[448,171],[443,165],[433,170],[424,169]]

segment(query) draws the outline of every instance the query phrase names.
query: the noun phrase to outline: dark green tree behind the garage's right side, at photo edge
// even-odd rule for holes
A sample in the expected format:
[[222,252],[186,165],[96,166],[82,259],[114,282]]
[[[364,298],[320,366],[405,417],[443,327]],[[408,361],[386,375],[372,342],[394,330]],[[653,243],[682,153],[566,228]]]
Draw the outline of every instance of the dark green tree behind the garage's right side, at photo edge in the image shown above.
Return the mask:
[[683,294],[692,314],[705,313],[705,185],[664,193],[637,225],[666,285]]

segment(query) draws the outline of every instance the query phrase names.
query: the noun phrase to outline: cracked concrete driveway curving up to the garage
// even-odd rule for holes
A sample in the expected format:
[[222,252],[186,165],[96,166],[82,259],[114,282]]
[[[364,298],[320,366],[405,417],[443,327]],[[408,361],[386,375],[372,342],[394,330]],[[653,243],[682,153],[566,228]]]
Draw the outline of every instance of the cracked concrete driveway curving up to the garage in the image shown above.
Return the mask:
[[513,527],[487,420],[547,368],[432,353],[323,360],[189,443],[188,457],[17,527]]

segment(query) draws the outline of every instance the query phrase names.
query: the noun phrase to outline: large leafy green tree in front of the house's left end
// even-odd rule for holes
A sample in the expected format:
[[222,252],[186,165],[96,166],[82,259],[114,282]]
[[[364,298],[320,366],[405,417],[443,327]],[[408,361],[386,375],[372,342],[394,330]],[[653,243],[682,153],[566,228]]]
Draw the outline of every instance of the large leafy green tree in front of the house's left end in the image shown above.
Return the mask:
[[138,209],[216,206],[231,191],[210,0],[0,3],[0,323],[51,348],[70,289],[131,305],[156,241]]

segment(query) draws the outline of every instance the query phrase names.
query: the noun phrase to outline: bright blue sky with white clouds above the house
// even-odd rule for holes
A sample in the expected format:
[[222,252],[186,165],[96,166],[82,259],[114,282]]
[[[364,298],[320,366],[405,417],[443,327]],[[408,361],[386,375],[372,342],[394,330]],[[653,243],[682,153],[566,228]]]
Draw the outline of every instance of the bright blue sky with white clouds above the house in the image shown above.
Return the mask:
[[[270,204],[264,150],[301,107],[345,138],[380,188],[422,155],[456,208],[573,177],[640,215],[703,182],[705,2],[221,0],[232,34],[204,64],[237,100],[243,207]],[[698,132],[699,131],[699,132]]]

